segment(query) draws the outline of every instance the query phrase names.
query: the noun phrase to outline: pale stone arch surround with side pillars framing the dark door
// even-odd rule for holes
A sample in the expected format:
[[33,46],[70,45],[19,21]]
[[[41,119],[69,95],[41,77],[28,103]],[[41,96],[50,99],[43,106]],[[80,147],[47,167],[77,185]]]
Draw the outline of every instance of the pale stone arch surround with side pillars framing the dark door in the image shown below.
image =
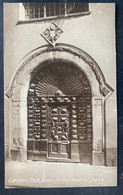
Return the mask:
[[56,61],[75,64],[91,86],[92,93],[92,164],[104,165],[104,102],[113,92],[105,82],[96,62],[82,50],[65,44],[54,48],[45,46],[28,54],[18,65],[11,79],[6,95],[10,98],[10,156],[13,159],[27,159],[27,94],[31,74],[36,67]]

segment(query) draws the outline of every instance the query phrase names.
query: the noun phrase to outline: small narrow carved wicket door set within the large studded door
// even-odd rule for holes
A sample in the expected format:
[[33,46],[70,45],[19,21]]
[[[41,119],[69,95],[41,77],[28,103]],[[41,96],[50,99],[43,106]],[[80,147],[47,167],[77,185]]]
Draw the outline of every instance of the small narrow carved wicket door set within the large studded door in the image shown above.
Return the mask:
[[69,158],[71,105],[65,102],[50,102],[47,105],[47,113],[48,156]]

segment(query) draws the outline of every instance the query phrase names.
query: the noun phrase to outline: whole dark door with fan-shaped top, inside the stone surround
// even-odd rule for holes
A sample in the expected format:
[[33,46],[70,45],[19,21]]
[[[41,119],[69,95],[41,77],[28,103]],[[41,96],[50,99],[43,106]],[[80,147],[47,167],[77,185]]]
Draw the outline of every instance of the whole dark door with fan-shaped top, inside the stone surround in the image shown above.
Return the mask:
[[91,96],[86,75],[74,64],[38,66],[27,97],[27,158],[91,163]]

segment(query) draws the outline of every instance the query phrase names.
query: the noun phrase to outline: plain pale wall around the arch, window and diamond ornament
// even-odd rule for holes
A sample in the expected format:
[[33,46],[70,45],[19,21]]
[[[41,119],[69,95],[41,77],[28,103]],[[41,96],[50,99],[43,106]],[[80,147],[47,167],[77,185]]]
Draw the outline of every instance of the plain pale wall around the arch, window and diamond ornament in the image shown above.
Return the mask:
[[[106,82],[114,89],[106,101],[107,164],[116,161],[116,60],[115,60],[115,5],[90,4],[90,15],[55,19],[64,33],[56,41],[74,45],[87,52],[101,68]],[[40,36],[50,20],[18,24],[19,4],[4,4],[4,88],[7,89],[13,71],[22,58],[32,50],[46,45]],[[5,98],[6,144],[9,142],[8,100]],[[111,157],[111,158],[110,158]],[[111,160],[114,159],[114,160]]]

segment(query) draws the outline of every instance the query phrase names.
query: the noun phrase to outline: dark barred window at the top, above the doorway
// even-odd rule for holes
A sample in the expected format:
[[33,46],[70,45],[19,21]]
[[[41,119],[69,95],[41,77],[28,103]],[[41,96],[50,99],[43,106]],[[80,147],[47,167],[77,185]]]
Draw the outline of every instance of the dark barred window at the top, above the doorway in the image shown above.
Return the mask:
[[88,3],[20,3],[20,21],[37,21],[90,14]]

